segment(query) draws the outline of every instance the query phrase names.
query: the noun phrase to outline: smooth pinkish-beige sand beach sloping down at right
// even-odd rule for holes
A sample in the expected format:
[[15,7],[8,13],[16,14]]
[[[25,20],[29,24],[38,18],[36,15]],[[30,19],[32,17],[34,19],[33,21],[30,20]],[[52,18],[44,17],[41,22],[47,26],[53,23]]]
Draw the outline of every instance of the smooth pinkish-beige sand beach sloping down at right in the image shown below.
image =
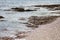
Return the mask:
[[60,40],[60,18],[56,21],[40,25],[39,28],[35,29],[29,36],[25,38],[26,40]]

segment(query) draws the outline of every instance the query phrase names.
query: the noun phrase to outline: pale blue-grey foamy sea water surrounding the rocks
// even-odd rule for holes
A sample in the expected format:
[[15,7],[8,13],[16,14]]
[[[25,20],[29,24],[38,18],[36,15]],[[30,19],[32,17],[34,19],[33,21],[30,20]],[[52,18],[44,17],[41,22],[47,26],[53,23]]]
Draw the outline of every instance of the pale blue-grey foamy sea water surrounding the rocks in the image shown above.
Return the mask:
[[[31,28],[26,27],[25,23],[30,16],[46,16],[51,11],[46,8],[40,8],[38,11],[31,12],[15,12],[4,11],[12,7],[26,7],[36,4],[60,4],[60,0],[0,0],[0,16],[5,17],[5,21],[0,21],[0,37],[11,36],[19,31],[30,31]],[[59,14],[50,14],[59,15]],[[25,18],[26,20],[19,20],[19,18]],[[8,29],[8,31],[3,31]]]

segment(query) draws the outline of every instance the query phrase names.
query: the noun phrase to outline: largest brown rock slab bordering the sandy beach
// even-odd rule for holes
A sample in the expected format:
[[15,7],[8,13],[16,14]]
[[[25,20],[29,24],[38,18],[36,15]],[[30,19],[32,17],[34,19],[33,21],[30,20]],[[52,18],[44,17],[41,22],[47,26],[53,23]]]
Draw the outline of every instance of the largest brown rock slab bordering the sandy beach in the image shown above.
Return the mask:
[[43,25],[53,22],[54,20],[56,20],[56,18],[57,16],[48,16],[48,17],[31,16],[28,22],[35,25]]

